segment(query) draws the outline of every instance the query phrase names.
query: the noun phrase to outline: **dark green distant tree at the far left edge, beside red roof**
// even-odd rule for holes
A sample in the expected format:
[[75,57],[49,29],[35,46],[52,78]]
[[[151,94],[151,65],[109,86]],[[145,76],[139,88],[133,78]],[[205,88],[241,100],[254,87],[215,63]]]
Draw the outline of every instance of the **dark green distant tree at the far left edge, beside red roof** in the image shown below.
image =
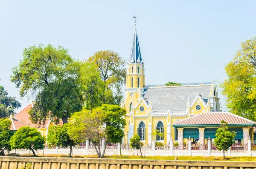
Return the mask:
[[9,117],[14,113],[14,109],[20,108],[20,103],[16,97],[8,96],[8,92],[0,86],[0,118]]

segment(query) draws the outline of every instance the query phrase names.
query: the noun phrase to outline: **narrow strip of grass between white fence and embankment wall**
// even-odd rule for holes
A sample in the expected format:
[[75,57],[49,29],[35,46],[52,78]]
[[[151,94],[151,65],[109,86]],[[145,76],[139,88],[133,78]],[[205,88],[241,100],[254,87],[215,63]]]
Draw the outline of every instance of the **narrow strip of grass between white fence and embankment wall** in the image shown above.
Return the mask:
[[[33,157],[31,155],[23,155],[23,157]],[[37,157],[59,157],[67,158],[68,155],[38,155]],[[72,158],[98,158],[97,155],[91,156],[79,156],[74,155]],[[141,158],[140,156],[128,156],[128,155],[112,155],[105,156],[108,159],[131,159],[131,160],[174,160],[173,156],[147,156]],[[202,156],[178,156],[178,160],[189,160],[189,161],[256,161],[256,157],[202,157]]]

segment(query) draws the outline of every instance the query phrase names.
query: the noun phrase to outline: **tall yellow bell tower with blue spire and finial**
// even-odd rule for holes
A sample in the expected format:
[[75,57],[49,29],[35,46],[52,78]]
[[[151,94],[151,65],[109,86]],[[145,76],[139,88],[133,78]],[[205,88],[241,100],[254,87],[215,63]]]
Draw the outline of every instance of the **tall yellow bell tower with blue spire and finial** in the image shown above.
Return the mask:
[[134,107],[134,104],[135,106],[137,105],[137,102],[142,97],[141,91],[143,91],[142,89],[145,86],[144,62],[140,53],[140,44],[136,29],[137,18],[134,18],[134,38],[126,71],[125,109],[127,109],[127,114],[130,114],[132,111],[131,107]]

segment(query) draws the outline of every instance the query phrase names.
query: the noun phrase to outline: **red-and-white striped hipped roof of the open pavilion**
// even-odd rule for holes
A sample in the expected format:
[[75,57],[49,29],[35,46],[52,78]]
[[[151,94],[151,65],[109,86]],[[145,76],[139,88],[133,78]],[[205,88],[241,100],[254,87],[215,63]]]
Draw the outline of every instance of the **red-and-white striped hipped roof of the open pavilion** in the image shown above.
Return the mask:
[[183,120],[176,121],[172,124],[172,126],[207,126],[214,125],[219,126],[221,120],[229,123],[230,126],[239,126],[239,125],[247,125],[247,126],[256,126],[256,122],[246,119],[244,117],[240,117],[230,112],[208,112],[202,113],[199,115],[195,115],[193,117],[189,117]]

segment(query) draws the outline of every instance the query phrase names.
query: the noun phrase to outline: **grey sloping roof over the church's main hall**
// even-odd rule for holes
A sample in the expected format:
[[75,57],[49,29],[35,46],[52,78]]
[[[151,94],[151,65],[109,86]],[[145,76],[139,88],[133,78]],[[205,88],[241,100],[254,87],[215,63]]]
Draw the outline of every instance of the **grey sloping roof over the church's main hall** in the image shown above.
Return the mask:
[[184,110],[189,98],[193,103],[198,92],[204,99],[210,94],[211,84],[191,86],[149,87],[143,91],[143,97],[152,102],[153,110]]

